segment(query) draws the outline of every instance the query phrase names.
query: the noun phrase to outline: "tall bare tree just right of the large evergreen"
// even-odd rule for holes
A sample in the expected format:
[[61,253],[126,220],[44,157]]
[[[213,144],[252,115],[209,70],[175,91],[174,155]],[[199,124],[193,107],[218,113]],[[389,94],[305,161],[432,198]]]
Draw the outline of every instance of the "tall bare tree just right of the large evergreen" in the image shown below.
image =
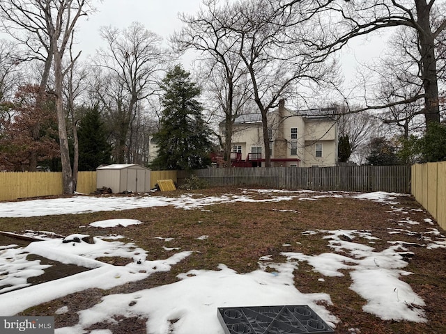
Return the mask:
[[[233,123],[251,92],[247,86],[245,65],[238,56],[238,36],[231,33],[236,17],[224,11],[217,0],[203,1],[205,9],[196,15],[180,15],[184,26],[171,38],[176,50],[193,49],[199,52],[201,72],[210,100],[224,117],[224,160],[231,166]],[[223,6],[229,6],[224,1]]]

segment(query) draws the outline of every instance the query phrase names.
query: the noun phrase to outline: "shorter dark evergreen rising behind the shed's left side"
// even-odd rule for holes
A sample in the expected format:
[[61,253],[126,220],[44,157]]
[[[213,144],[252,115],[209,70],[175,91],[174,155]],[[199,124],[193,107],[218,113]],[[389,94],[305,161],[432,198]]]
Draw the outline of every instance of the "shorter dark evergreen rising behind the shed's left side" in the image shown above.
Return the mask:
[[97,108],[87,109],[79,121],[79,170],[96,170],[101,164],[110,164],[112,146]]

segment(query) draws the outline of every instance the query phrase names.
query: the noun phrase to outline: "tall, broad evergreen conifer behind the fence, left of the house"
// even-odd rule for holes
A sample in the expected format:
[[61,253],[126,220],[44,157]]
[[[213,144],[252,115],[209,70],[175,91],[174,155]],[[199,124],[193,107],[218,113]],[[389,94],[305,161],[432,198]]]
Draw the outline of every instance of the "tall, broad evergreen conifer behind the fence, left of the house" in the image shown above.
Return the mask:
[[151,164],[158,170],[190,170],[210,164],[210,128],[202,118],[203,107],[196,99],[201,90],[190,73],[176,65],[162,81],[162,118],[157,142],[157,157]]

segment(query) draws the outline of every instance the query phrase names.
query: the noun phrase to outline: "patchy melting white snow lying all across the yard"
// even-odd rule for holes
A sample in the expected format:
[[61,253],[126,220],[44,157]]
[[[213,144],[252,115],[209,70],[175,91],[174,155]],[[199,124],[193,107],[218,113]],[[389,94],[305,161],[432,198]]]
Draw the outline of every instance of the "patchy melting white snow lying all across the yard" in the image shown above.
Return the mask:
[[[58,200],[26,200],[22,202],[0,203],[0,216],[42,215],[47,210],[54,214],[59,208],[60,214],[77,214],[91,212],[92,207],[103,210],[130,209],[132,207],[153,207],[174,205],[178,210],[203,209],[212,210],[212,205],[218,202],[235,202],[238,200],[254,200],[252,195],[259,190],[245,191],[243,196],[203,197],[183,196],[180,198],[164,198],[162,196],[146,196],[141,198],[110,197],[95,198],[87,201],[84,196],[61,198]],[[330,295],[324,293],[303,294],[299,292],[294,282],[293,271],[299,270],[300,262],[307,262],[313,267],[315,280],[320,285],[329,285],[330,278],[348,274],[352,280],[350,289],[367,301],[363,311],[394,321],[426,321],[424,301],[413,292],[407,283],[399,278],[410,275],[405,271],[407,262],[401,259],[399,252],[408,252],[399,235],[411,234],[410,226],[422,224],[425,232],[420,233],[420,244],[426,249],[446,248],[446,237],[441,234],[429,218],[423,221],[412,221],[410,209],[399,209],[394,206],[394,193],[345,193],[326,192],[321,195],[312,191],[272,191],[271,201],[281,200],[318,200],[323,197],[351,197],[360,200],[374,200],[383,204],[383,210],[399,214],[398,228],[389,228],[389,234],[394,241],[388,248],[378,252],[374,249],[376,237],[371,232],[357,230],[309,230],[302,233],[317,234],[327,241],[327,253],[312,255],[286,251],[289,244],[283,244],[285,262],[275,263],[268,254],[259,258],[258,269],[251,273],[237,273],[230,264],[220,264],[215,270],[192,270],[178,275],[178,282],[161,285],[152,289],[142,289],[130,294],[112,294],[105,296],[102,302],[93,307],[79,311],[79,322],[72,327],[58,328],[56,334],[82,334],[92,324],[102,321],[114,321],[114,316],[144,317],[147,330],[153,334],[223,334],[224,331],[217,319],[217,308],[262,306],[262,305],[309,305],[330,326],[336,326],[339,319],[332,315],[323,305],[330,305]],[[93,198],[91,198],[93,200]],[[112,202],[114,207],[112,208]],[[418,210],[418,209],[417,209]],[[296,214],[299,214],[296,212]],[[426,213],[426,217],[427,217]],[[130,219],[95,221],[89,225],[96,228],[113,228],[141,224]],[[82,230],[82,227],[79,226]],[[43,231],[28,231],[27,235],[40,236],[45,239]],[[346,241],[344,236],[348,236]],[[73,234],[73,237],[84,237],[83,234]],[[61,296],[84,289],[98,287],[110,289],[128,282],[143,280],[152,273],[169,271],[178,262],[191,256],[193,249],[169,248],[169,235],[147,235],[148,238],[160,240],[160,247],[171,253],[166,253],[164,259],[150,259],[150,250],[139,248],[134,243],[123,243],[121,236],[111,234],[95,237],[95,244],[63,243],[62,239],[46,239],[33,242],[26,248],[17,245],[0,246],[0,315],[15,315],[26,308],[51,301]],[[344,237],[344,238],[343,238]],[[212,242],[212,236],[200,236],[196,239]],[[289,242],[290,240],[286,240]],[[298,240],[293,242],[299,243]],[[40,276],[46,269],[39,261],[26,260],[27,253],[37,254],[51,260],[67,264],[91,268],[90,271],[77,273],[59,280],[28,286],[26,278]],[[342,255],[347,254],[348,257]],[[99,257],[128,257],[133,261],[125,266],[114,266],[95,260]],[[266,270],[267,267],[271,270]],[[339,271],[344,269],[344,271]],[[346,270],[346,271],[345,271]],[[9,286],[10,285],[10,286]],[[19,289],[21,288],[21,289]],[[323,303],[320,303],[320,302]],[[70,304],[56,311],[57,314],[72,312]],[[176,321],[178,319],[178,321]],[[175,321],[174,321],[175,320]],[[199,326],[197,326],[199,324]],[[111,334],[108,330],[98,330],[91,333]]]

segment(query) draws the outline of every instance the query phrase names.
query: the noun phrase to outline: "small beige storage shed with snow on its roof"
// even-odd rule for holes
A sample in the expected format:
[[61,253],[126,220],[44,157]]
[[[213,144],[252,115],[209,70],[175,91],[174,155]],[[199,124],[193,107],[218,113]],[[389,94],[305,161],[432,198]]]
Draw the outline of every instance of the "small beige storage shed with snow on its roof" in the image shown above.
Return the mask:
[[114,164],[96,168],[96,187],[112,189],[113,193],[151,190],[151,170],[137,164]]

